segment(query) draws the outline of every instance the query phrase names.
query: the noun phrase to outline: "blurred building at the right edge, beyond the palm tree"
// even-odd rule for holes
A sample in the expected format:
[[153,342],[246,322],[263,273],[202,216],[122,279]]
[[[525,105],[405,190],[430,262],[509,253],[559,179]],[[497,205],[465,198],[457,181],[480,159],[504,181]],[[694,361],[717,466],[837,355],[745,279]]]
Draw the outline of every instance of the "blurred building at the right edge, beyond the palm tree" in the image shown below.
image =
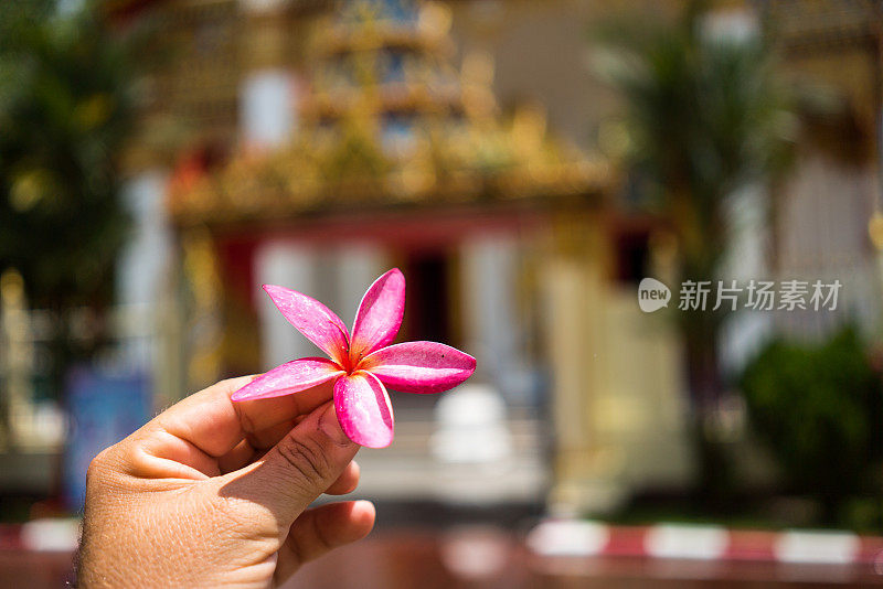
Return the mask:
[[840,315],[785,313],[779,330],[820,338],[843,314],[879,334],[883,285],[868,219],[883,188],[883,10],[879,2],[757,2],[798,92],[800,137],[781,191],[772,264],[781,277],[843,281]]

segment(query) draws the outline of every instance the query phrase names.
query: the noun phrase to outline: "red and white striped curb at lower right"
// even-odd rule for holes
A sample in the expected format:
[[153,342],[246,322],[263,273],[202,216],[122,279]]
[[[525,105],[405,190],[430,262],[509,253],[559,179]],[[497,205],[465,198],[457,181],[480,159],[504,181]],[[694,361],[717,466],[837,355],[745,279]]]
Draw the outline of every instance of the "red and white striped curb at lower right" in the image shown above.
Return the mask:
[[693,560],[883,565],[883,537],[839,531],[736,531],[715,525],[610,526],[547,520],[528,535],[542,556],[631,556]]

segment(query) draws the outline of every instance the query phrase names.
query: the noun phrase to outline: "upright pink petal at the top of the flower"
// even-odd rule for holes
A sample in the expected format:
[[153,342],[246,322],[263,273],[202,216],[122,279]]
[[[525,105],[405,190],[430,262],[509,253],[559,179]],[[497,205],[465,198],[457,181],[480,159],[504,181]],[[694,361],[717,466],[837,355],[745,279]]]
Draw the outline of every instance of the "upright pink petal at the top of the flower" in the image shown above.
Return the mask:
[[374,280],[359,304],[352,324],[352,364],[359,364],[363,356],[392,342],[404,313],[405,277],[398,268],[393,268]]

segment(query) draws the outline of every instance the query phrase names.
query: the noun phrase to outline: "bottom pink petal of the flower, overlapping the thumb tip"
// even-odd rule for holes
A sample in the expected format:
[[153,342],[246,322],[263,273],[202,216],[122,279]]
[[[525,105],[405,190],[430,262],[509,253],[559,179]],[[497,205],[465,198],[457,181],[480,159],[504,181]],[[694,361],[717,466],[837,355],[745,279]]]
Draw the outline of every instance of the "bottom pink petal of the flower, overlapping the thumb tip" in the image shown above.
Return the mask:
[[358,371],[334,383],[334,410],[343,432],[368,448],[385,448],[393,441],[390,395],[376,376]]

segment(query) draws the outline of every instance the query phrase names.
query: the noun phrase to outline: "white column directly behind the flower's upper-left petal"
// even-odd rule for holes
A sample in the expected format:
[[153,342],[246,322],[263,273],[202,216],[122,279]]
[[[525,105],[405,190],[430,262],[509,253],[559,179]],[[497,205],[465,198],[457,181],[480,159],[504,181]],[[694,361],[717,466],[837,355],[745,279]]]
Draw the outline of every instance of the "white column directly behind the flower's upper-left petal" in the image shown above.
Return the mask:
[[277,285],[315,296],[315,253],[300,244],[268,243],[255,254],[257,312],[265,370],[289,360],[323,355],[281,315],[260,285]]

